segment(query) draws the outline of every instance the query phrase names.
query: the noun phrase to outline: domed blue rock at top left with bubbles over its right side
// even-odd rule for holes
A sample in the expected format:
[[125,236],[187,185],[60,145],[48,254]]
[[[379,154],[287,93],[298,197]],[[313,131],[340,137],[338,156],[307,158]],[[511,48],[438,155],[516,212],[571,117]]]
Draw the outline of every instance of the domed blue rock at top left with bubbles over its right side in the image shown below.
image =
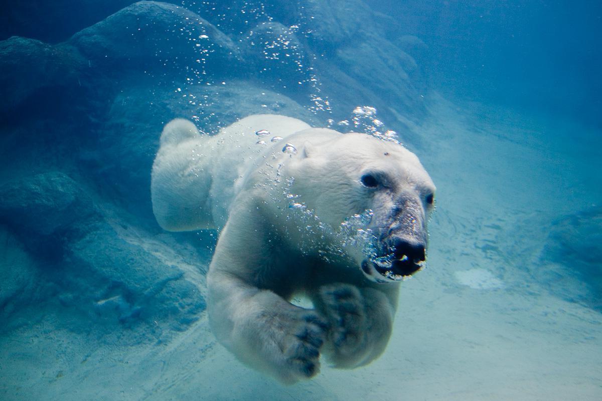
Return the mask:
[[177,5],[140,1],[68,41],[93,66],[140,71],[187,69],[195,80],[230,70],[240,58],[232,40],[207,20]]

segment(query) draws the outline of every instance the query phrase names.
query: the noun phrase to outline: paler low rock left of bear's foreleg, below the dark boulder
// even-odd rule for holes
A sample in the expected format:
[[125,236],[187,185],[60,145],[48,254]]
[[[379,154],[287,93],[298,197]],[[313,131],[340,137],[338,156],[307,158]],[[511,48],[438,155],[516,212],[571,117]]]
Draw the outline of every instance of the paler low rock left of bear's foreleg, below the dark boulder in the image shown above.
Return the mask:
[[155,256],[170,253],[164,245],[152,243],[151,252],[143,233],[126,231],[103,223],[66,246],[65,290],[77,295],[71,302],[95,319],[187,328],[205,310],[202,283],[192,283],[178,262]]

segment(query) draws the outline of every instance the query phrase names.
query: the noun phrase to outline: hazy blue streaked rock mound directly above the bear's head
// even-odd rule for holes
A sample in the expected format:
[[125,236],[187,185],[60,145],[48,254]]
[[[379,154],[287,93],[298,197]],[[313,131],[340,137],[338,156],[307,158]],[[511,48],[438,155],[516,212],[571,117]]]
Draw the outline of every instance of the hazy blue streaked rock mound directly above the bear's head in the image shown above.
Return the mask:
[[414,79],[420,75],[415,62],[394,44],[366,35],[362,41],[341,46],[334,57],[315,60],[314,70],[322,96],[332,106],[331,118],[349,120],[357,106],[373,106],[377,118],[388,126],[381,128],[393,129],[402,142],[420,147],[411,126],[426,115],[421,96],[426,83]]

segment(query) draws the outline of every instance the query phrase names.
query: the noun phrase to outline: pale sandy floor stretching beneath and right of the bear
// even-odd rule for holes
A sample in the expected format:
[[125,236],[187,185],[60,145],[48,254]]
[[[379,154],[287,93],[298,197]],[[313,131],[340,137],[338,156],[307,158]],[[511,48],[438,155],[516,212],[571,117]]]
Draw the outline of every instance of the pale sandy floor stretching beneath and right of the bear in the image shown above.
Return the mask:
[[0,338],[0,398],[602,399],[602,314],[532,276],[551,222],[600,200],[601,147],[588,139],[600,133],[437,96],[432,112],[416,128],[438,186],[428,267],[402,284],[370,366],[282,387],[216,344],[205,318],[169,343],[114,347],[47,317]]

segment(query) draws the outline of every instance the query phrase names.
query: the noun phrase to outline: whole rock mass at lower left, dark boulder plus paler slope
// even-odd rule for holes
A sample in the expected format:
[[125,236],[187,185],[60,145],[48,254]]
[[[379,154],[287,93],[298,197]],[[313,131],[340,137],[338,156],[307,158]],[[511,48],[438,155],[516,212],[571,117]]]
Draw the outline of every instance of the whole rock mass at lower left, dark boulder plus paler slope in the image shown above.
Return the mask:
[[184,262],[111,209],[60,171],[0,186],[0,312],[36,298],[23,293],[35,282],[31,293],[51,283],[63,307],[93,321],[154,322],[166,331],[157,335],[166,335],[198,319],[205,309],[201,283],[185,272],[197,262],[194,253]]

